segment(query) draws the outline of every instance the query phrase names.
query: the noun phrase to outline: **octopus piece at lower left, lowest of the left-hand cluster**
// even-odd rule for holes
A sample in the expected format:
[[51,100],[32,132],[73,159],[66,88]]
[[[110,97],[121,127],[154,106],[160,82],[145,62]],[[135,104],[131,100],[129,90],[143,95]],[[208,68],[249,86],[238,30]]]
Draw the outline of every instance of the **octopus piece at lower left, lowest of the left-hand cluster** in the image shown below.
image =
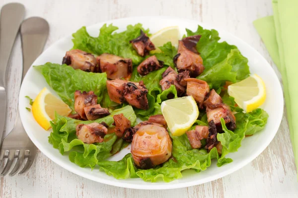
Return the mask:
[[108,129],[96,122],[91,124],[78,124],[75,127],[76,136],[86,144],[101,143]]

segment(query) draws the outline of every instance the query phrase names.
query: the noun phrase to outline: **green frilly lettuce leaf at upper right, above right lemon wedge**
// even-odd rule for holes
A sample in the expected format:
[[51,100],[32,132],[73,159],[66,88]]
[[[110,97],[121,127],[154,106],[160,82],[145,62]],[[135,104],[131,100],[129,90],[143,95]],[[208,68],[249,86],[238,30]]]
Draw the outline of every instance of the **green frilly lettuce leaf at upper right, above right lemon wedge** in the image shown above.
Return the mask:
[[236,46],[226,42],[220,43],[218,31],[207,30],[198,26],[195,32],[186,29],[187,36],[201,35],[197,44],[197,50],[203,59],[205,70],[198,78],[207,81],[212,88],[217,89],[224,81],[233,83],[249,76],[247,58],[245,58]]

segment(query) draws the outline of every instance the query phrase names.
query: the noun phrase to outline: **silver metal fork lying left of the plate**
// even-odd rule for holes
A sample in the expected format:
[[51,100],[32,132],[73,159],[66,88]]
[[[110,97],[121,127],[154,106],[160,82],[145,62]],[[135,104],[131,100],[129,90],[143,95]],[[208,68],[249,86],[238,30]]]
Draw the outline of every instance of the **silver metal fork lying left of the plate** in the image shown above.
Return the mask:
[[[44,48],[49,34],[49,24],[43,18],[31,17],[22,22],[20,32],[23,52],[23,74],[21,81],[23,81],[31,64]],[[5,167],[0,175],[5,176],[8,173],[14,158],[17,158],[17,160],[9,176],[13,176],[17,173],[26,158],[27,162],[18,174],[20,175],[27,172],[33,164],[36,151],[37,148],[27,136],[19,112],[17,112],[15,126],[4,138],[0,148],[0,165],[3,159],[7,157]]]

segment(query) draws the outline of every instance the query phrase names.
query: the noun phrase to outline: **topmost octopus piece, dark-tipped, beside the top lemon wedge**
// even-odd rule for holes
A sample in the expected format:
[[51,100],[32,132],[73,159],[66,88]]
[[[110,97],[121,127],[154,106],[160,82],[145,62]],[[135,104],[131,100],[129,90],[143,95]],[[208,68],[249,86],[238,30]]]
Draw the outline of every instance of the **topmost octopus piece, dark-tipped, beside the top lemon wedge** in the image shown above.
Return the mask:
[[155,49],[155,46],[152,44],[149,37],[143,32],[143,30],[141,30],[141,35],[138,38],[131,40],[130,43],[141,56],[148,55],[149,51]]

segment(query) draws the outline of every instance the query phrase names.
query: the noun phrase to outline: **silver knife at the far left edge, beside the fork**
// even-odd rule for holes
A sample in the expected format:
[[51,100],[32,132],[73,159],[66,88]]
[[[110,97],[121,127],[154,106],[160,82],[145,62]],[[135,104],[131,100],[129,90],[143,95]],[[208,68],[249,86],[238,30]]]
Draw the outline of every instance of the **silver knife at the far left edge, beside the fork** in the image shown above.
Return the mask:
[[6,4],[0,13],[0,143],[6,116],[6,67],[24,15],[25,7],[20,3]]

